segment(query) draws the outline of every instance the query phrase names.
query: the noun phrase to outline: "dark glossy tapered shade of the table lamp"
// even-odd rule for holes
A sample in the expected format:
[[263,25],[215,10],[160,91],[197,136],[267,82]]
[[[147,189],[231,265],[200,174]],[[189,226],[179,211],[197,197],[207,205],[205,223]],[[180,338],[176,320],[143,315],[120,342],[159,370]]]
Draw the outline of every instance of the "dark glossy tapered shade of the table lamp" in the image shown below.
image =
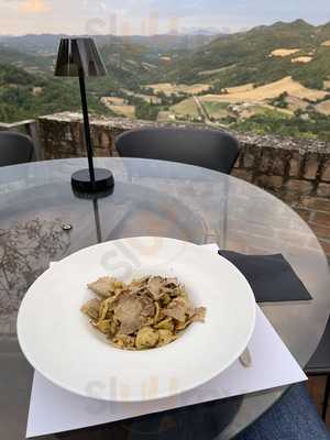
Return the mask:
[[92,38],[62,38],[55,76],[105,76],[106,66]]

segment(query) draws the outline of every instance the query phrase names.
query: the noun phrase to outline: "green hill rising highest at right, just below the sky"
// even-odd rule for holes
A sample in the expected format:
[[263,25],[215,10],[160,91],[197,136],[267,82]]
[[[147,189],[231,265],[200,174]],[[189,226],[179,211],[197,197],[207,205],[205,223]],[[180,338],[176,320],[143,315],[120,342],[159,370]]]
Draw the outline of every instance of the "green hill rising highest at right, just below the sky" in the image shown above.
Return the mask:
[[[271,82],[292,75],[308,86],[321,87],[330,76],[330,47],[326,42],[330,42],[330,23],[314,26],[296,20],[257,26],[223,35],[182,56],[167,67],[163,78],[190,84],[202,78],[223,88]],[[276,50],[276,56],[272,55]],[[293,52],[279,56],[278,50]]]

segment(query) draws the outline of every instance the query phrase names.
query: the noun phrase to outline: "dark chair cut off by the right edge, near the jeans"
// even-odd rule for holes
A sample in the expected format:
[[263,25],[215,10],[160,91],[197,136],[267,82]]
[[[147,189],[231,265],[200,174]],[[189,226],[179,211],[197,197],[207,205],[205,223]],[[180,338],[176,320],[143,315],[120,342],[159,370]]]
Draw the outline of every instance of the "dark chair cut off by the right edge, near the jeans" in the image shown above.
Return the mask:
[[317,351],[306,366],[306,373],[308,376],[327,376],[322,405],[322,418],[326,420],[330,397],[330,319]]

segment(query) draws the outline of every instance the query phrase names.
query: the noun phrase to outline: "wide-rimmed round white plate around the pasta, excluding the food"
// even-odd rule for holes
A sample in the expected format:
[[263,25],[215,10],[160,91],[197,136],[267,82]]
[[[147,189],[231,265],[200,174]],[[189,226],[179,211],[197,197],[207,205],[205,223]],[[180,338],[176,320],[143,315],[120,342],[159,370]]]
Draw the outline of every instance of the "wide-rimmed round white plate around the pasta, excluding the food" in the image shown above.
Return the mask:
[[[175,342],[123,351],[91,328],[81,305],[100,276],[177,276],[206,322]],[[178,395],[226,370],[244,351],[255,300],[244,276],[226,258],[178,240],[134,238],[84,249],[46,271],[26,293],[18,317],[21,348],[35,370],[82,396],[143,402]]]

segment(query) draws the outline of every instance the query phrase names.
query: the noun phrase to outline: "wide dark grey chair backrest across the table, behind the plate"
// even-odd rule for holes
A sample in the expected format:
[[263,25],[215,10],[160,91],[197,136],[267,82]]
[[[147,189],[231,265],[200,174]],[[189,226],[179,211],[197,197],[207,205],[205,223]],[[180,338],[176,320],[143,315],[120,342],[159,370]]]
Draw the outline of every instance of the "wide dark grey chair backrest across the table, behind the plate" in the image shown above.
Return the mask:
[[147,128],[128,131],[116,140],[122,157],[182,162],[230,174],[240,152],[239,142],[216,130]]

